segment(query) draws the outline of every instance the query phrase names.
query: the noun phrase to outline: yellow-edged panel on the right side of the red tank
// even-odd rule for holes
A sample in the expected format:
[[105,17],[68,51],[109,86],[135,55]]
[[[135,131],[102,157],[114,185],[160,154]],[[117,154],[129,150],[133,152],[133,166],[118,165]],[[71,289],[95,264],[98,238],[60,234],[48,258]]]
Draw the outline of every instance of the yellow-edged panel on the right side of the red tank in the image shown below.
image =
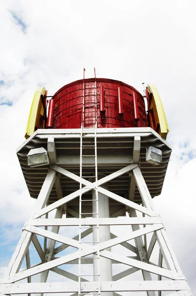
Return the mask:
[[165,111],[163,109],[163,105],[161,102],[161,98],[160,98],[159,93],[154,85],[148,84],[147,89],[148,89],[148,92],[151,94],[150,110],[153,109],[156,124],[159,125],[159,130],[157,132],[164,139],[166,139],[169,129],[168,129],[168,122],[166,119],[166,114],[165,114]]

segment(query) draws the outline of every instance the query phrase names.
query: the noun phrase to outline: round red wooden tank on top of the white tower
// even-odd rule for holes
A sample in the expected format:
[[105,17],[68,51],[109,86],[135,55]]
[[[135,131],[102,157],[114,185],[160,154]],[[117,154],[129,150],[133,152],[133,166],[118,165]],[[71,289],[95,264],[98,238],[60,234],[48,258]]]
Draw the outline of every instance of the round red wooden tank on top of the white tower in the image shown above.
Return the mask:
[[[55,102],[53,128],[93,127],[97,111],[97,127],[146,127],[148,126],[142,95],[132,86],[121,81],[96,78],[81,79],[60,88],[53,96]],[[119,113],[118,88],[121,89]],[[96,97],[97,93],[97,97]],[[133,93],[137,94],[140,120],[135,120]],[[96,105],[97,101],[97,105]],[[103,112],[104,116],[103,116]]]

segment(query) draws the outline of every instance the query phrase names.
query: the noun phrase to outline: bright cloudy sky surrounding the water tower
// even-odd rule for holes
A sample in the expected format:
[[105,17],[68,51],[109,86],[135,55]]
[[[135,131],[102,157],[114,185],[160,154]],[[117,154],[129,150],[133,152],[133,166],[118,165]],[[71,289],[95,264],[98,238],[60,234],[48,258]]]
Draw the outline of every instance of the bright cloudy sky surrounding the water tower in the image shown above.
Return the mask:
[[156,85],[172,155],[154,204],[196,293],[196,2],[194,0],[0,1],[0,278],[34,200],[16,148],[37,87],[53,95],[83,78]]

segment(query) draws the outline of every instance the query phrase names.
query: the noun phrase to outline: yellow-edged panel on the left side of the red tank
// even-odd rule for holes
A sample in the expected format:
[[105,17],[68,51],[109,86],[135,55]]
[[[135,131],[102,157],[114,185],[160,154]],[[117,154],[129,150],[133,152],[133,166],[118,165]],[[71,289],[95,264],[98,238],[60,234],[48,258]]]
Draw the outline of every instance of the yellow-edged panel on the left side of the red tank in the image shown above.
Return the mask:
[[40,115],[44,114],[44,107],[42,104],[41,96],[46,94],[45,87],[38,87],[37,91],[34,94],[33,101],[31,104],[28,123],[25,138],[27,139],[35,131],[35,128],[38,126]]

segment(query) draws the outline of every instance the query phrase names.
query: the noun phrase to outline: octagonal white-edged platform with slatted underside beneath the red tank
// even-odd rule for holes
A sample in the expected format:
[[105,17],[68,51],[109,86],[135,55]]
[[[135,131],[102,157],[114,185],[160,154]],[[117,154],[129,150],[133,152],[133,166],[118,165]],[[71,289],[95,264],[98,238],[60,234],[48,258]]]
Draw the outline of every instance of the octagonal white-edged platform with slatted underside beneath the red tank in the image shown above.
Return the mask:
[[[84,136],[84,134],[83,134]],[[109,175],[120,168],[123,168],[133,162],[134,139],[140,137],[140,169],[144,180],[148,186],[152,197],[161,193],[168,161],[171,154],[171,147],[153,129],[147,128],[115,128],[115,129],[97,129],[97,163],[100,178]],[[20,165],[28,185],[29,194],[33,198],[37,198],[41,186],[46,178],[49,166],[29,168],[27,166],[27,154],[32,148],[44,147],[47,149],[48,138],[55,138],[56,144],[56,164],[66,170],[80,176],[80,137],[81,129],[39,129],[28,140],[18,148],[17,155]],[[86,154],[84,161],[88,167],[84,168],[84,176],[86,180],[93,176],[93,168],[89,165],[93,157],[93,147],[90,147],[94,137],[92,129],[86,129],[83,145],[86,145]],[[85,143],[84,143],[85,141]],[[89,147],[88,147],[89,146]],[[145,160],[145,151],[147,146],[153,146],[162,150],[162,164],[154,166]],[[62,176],[62,175],[61,175]],[[136,186],[134,192],[130,192],[131,174],[124,174],[108,183],[108,189],[122,197],[129,198],[136,203],[141,203],[140,193]],[[77,189],[79,183],[65,176],[61,177],[63,195],[66,196]],[[85,198],[91,196],[91,191],[86,193]],[[50,194],[49,203],[57,200],[56,187]],[[78,212],[78,199],[74,199],[68,203],[68,207]],[[86,203],[86,211],[90,211],[91,203]],[[110,200],[110,209],[113,213],[122,208],[122,204],[114,200]],[[113,209],[113,210],[112,210]],[[112,215],[113,213],[110,213]]]

